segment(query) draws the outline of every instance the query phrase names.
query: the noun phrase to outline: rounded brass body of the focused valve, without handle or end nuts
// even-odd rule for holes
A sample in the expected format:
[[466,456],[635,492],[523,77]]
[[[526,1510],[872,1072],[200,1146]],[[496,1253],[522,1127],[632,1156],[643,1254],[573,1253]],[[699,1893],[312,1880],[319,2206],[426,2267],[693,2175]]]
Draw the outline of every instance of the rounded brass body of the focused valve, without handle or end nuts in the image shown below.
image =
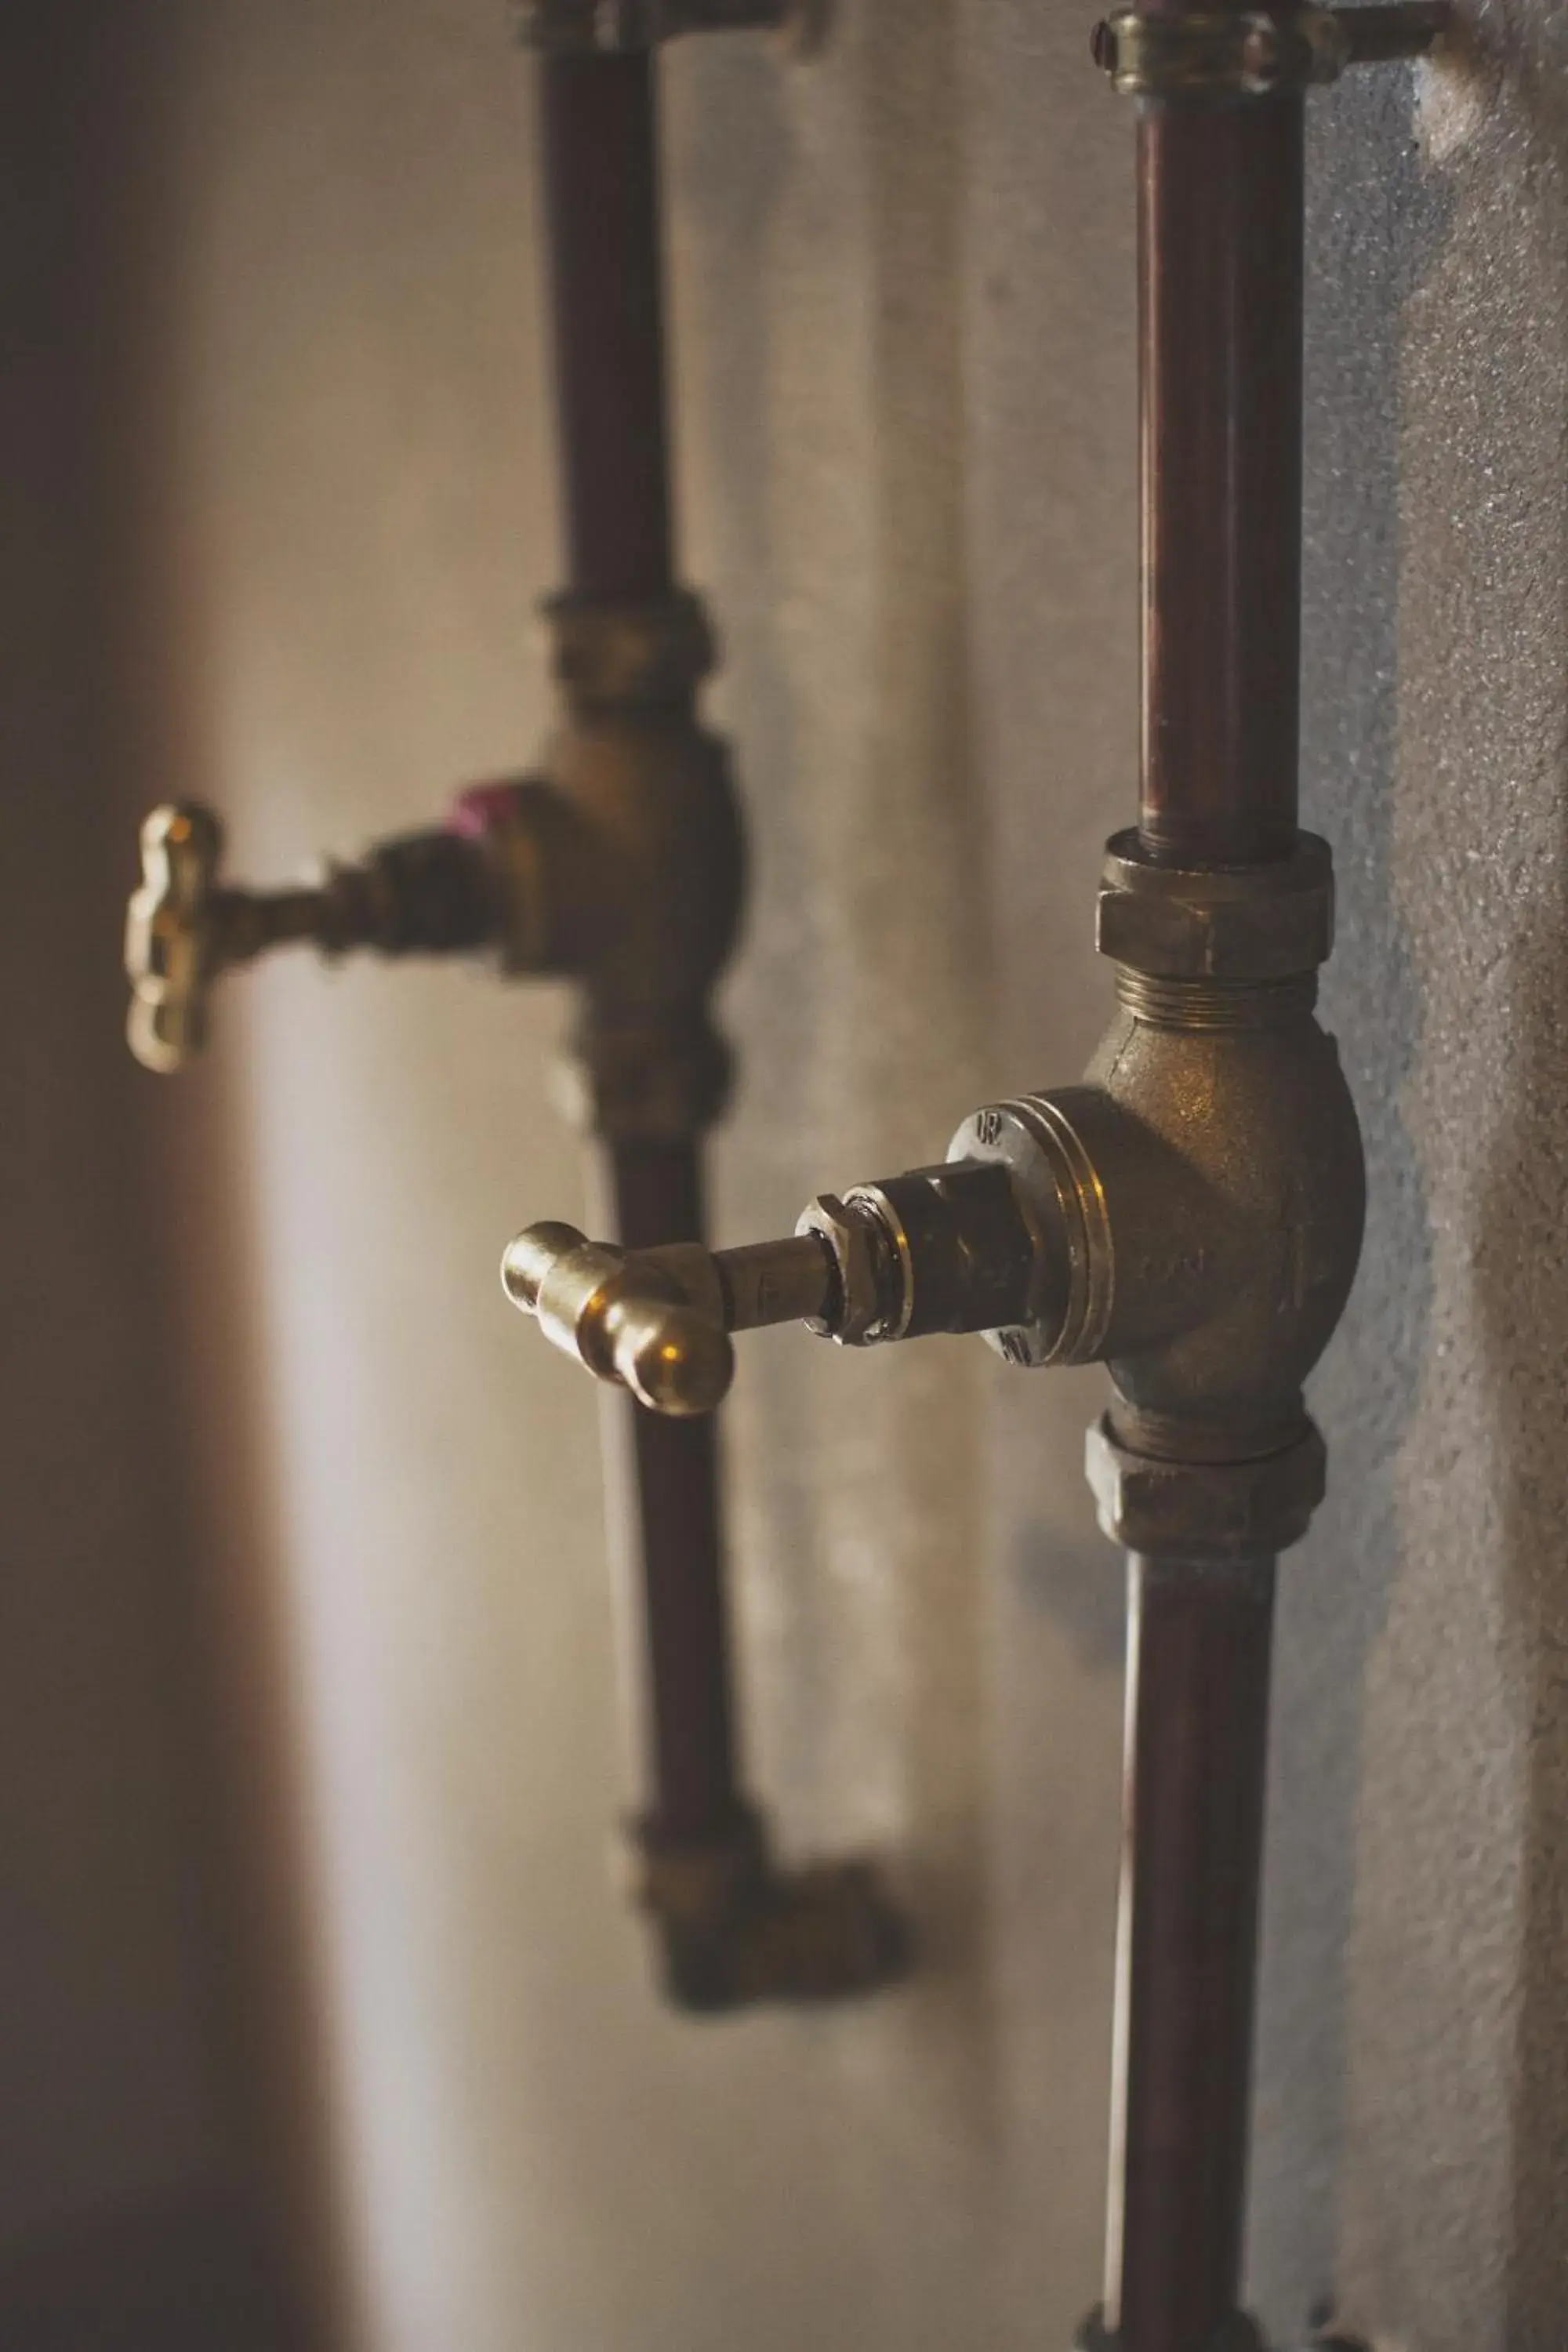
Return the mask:
[[978,1110],[959,1160],[994,1160],[1034,1216],[1013,1364],[1110,1364],[1138,1423],[1265,1451],[1340,1319],[1363,1214],[1361,1145],[1312,981],[1150,983],[1081,1087]]

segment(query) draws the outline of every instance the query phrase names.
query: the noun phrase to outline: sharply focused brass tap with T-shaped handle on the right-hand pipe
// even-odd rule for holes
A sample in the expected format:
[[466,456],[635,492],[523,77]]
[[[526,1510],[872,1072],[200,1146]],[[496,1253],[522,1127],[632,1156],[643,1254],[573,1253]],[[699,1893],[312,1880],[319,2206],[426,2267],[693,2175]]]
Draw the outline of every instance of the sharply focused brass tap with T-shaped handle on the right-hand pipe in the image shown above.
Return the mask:
[[980,1331],[1020,1367],[1110,1367],[1107,1531],[1201,1557],[1293,1543],[1321,1494],[1302,1381],[1356,1270],[1363,1167],[1314,1018],[1331,868],[1197,873],[1107,851],[1117,1021],[1084,1084],[976,1110],[940,1167],[816,1200],[790,1240],[621,1251],[531,1225],[503,1282],[557,1348],[663,1414],[724,1397],[729,1336]]

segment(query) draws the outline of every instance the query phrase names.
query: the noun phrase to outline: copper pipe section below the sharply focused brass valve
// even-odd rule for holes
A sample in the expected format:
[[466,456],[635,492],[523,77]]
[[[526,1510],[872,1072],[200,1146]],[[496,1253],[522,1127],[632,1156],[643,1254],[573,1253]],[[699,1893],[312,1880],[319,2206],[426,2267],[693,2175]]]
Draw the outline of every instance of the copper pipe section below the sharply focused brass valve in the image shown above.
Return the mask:
[[1237,2310],[1274,1562],[1128,1562],[1107,2314],[1206,2352]]

